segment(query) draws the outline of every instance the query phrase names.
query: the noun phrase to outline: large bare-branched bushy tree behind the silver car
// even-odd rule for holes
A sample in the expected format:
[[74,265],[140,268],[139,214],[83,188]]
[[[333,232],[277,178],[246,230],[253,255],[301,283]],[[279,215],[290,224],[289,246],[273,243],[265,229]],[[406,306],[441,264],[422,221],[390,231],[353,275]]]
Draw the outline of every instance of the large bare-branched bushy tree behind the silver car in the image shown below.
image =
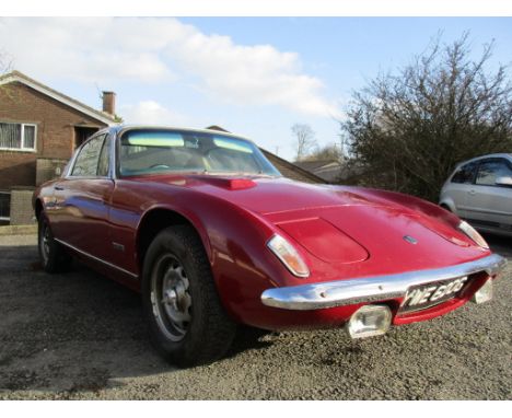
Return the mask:
[[492,45],[470,58],[467,34],[432,43],[397,74],[356,92],[341,128],[369,186],[437,201],[457,162],[512,150],[512,85],[487,70]]

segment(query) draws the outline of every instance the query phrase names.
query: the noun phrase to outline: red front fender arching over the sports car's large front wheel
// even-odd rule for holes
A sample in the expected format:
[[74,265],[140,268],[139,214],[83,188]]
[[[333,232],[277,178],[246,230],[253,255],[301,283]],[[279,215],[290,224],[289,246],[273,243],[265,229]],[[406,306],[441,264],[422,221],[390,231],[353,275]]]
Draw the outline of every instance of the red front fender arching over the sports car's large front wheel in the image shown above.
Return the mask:
[[[208,255],[216,288],[224,309],[237,322],[269,326],[271,310],[264,306],[261,293],[275,287],[294,286],[293,277],[267,248],[276,227],[243,206],[218,196],[173,189],[152,189],[151,199],[143,199],[144,218],[154,210],[167,210],[183,217],[197,231]],[[166,197],[165,197],[166,196]],[[266,313],[265,313],[266,312]]]

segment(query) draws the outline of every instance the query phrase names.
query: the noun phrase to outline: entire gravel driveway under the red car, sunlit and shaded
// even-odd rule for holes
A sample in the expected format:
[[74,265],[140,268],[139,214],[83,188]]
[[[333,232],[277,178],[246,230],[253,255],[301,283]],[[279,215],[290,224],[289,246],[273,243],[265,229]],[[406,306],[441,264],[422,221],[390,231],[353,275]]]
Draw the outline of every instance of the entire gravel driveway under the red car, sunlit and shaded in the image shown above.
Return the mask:
[[[512,259],[512,240],[489,237]],[[240,335],[229,358],[175,369],[136,293],[74,264],[50,276],[36,237],[0,237],[0,399],[511,399],[512,263],[494,300],[351,341],[342,330]]]

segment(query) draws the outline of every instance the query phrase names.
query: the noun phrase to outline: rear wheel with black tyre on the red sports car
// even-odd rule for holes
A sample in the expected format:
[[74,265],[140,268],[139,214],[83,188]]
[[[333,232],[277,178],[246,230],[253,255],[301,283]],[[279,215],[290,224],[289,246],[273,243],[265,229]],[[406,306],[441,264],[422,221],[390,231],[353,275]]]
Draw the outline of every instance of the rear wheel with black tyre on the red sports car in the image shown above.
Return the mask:
[[71,256],[57,241],[54,240],[48,220],[44,213],[39,216],[37,243],[40,264],[46,272],[61,272],[69,269]]

